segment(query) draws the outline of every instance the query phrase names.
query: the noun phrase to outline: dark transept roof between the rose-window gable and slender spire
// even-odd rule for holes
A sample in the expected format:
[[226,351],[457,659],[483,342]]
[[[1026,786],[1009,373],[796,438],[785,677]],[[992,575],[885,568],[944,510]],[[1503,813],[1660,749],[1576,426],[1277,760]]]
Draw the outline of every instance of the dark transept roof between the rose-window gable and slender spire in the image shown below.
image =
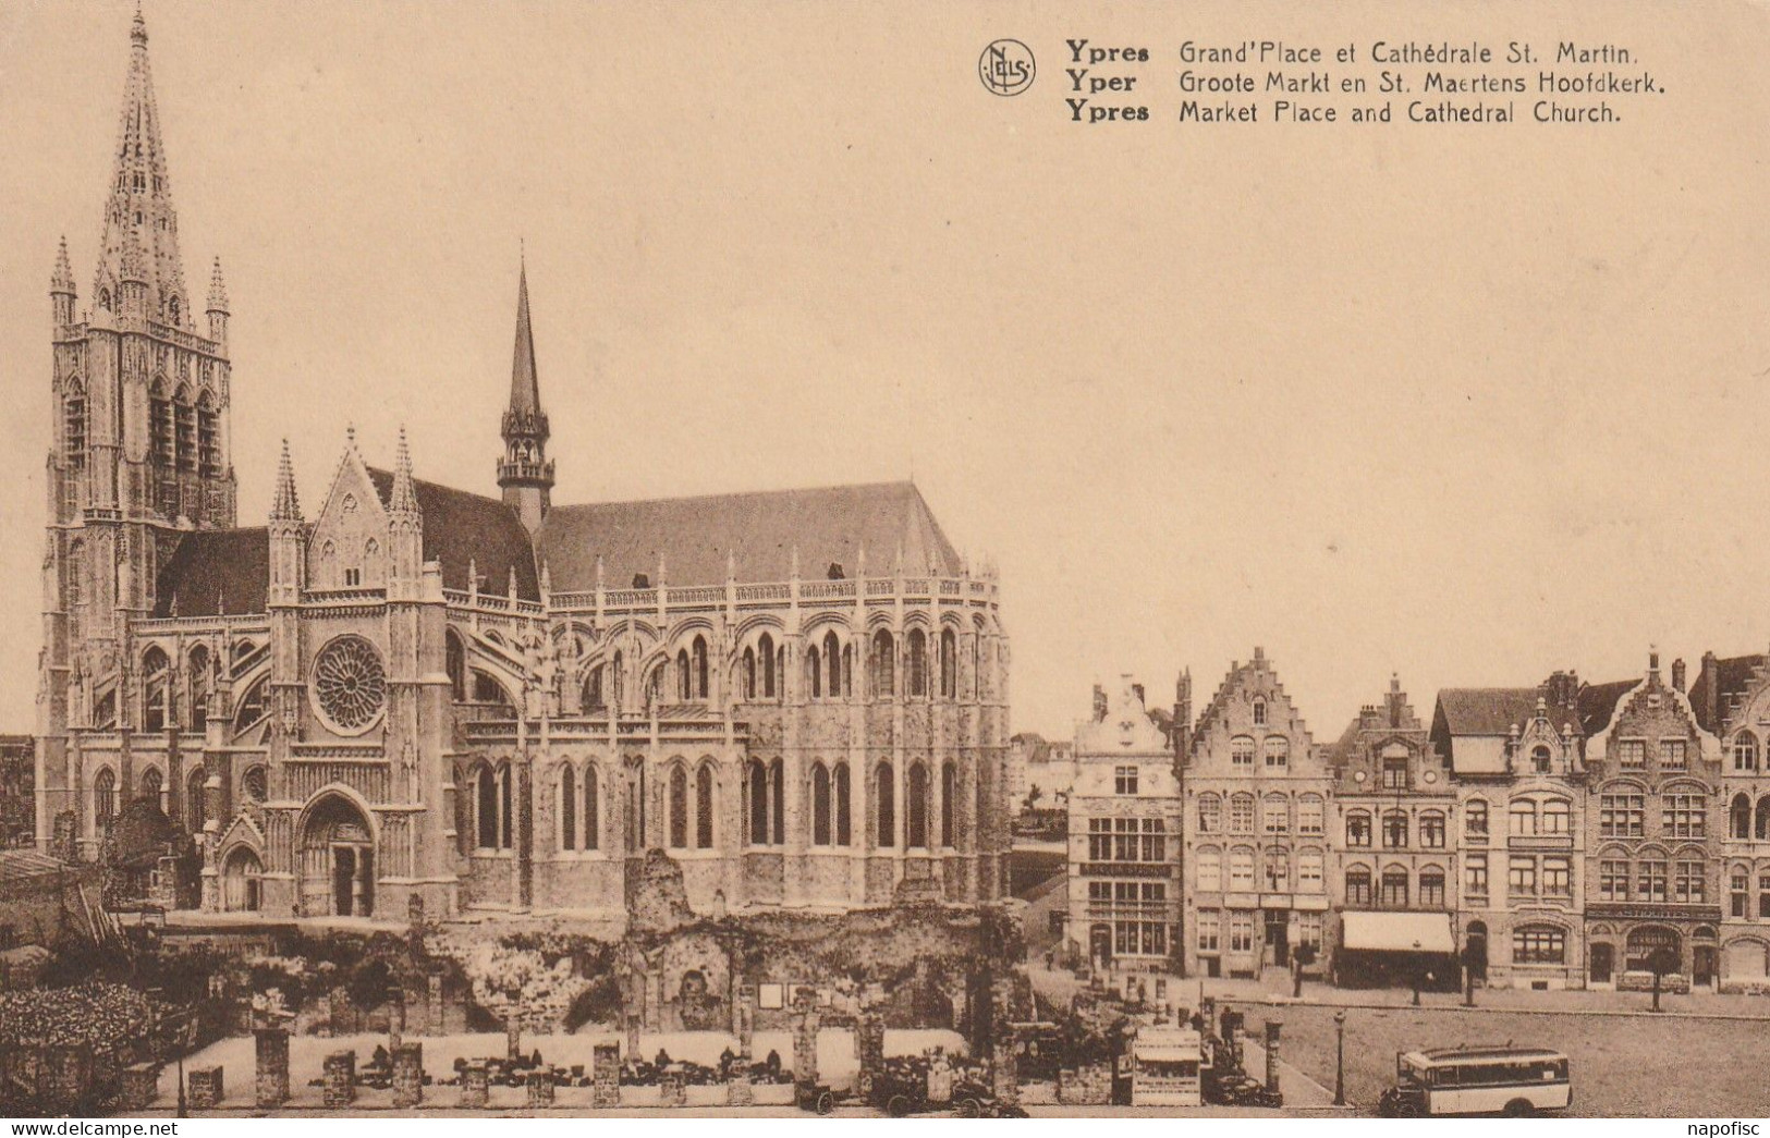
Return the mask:
[[[384,504],[393,501],[393,473],[368,469],[375,494]],[[469,494],[434,481],[412,480],[418,510],[423,515],[425,561],[442,565],[442,588],[466,589],[467,565],[480,573],[480,591],[503,596],[510,589],[510,570],[517,570],[517,596],[540,600],[535,575],[535,550],[517,513],[497,497]]]

